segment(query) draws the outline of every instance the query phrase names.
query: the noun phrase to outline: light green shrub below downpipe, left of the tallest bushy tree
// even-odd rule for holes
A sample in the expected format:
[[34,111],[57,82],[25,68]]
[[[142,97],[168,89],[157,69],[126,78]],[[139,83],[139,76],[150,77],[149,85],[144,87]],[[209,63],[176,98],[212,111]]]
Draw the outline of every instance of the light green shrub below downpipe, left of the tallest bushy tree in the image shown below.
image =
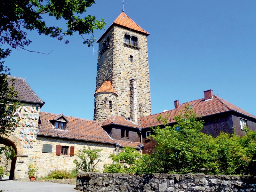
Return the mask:
[[103,172],[134,173],[137,172],[139,164],[141,164],[141,154],[132,147],[125,147],[124,152],[119,153],[117,156],[110,154],[109,158],[111,158],[114,164],[104,165]]

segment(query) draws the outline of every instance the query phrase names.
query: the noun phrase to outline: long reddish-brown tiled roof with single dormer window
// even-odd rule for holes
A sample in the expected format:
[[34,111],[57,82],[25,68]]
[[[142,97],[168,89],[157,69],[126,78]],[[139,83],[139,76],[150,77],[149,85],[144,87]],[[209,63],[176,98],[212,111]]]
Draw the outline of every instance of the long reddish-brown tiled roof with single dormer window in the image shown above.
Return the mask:
[[138,146],[140,145],[140,143],[138,142],[119,141],[111,139],[107,132],[105,132],[104,129],[100,126],[100,122],[98,121],[65,116],[69,120],[69,122],[67,123],[67,130],[56,130],[53,128],[53,125],[50,122],[56,116],[59,115],[42,111],[40,112],[40,121],[38,123],[38,135],[89,140],[95,142],[98,141],[110,144],[119,143],[122,146],[131,146],[139,148]]

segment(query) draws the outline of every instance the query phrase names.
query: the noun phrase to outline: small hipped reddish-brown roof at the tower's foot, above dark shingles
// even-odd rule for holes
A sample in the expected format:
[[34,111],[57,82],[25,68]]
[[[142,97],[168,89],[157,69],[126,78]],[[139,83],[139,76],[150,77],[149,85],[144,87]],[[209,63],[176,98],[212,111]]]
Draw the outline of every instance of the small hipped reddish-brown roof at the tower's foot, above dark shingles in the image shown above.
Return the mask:
[[139,128],[138,124],[134,124],[131,121],[125,119],[124,117],[120,117],[120,116],[112,116],[109,117],[108,119],[106,119],[105,121],[103,121],[101,126],[106,126],[106,125],[110,125],[110,124],[116,124],[116,125],[123,125],[126,127],[135,127],[135,128]]

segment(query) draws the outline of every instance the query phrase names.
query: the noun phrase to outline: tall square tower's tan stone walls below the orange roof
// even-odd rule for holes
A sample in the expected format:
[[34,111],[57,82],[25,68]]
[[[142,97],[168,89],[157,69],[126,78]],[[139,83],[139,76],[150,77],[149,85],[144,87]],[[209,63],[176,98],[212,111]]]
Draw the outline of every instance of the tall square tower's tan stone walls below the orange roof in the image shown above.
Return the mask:
[[[116,115],[130,117],[130,80],[137,80],[138,117],[151,115],[147,36],[132,32],[140,49],[124,45],[126,29],[114,26],[99,42],[99,51],[109,36],[109,48],[99,52],[96,90],[105,81],[112,81],[118,97]],[[133,61],[130,61],[130,55]]]

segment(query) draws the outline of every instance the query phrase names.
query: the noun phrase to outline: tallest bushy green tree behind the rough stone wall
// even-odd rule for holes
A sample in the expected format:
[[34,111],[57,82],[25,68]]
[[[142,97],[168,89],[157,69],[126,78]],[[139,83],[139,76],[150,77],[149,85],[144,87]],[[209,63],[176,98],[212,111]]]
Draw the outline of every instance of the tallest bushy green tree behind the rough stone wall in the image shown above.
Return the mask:
[[[216,172],[215,142],[211,135],[200,132],[203,121],[196,117],[190,104],[186,105],[178,116],[177,124],[167,124],[163,116],[157,118],[165,128],[152,128],[152,138],[156,141],[156,152],[143,157],[144,170],[149,173],[190,173]],[[146,168],[146,169],[145,169]]]

